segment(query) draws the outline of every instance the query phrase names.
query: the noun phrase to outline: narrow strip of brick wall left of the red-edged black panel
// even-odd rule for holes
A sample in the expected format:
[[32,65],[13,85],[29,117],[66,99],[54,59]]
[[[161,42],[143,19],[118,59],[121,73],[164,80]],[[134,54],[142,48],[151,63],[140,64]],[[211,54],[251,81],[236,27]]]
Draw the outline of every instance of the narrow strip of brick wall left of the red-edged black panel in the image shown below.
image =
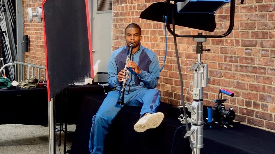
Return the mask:
[[[28,21],[28,8],[32,8],[34,12],[36,7],[41,7],[43,0],[23,0],[23,34],[29,35],[30,46],[29,52],[25,52],[24,62],[30,64],[37,64],[41,66],[46,66],[45,62],[45,49],[44,49],[44,31],[43,24],[34,21]],[[32,72],[30,72],[31,74]],[[36,72],[37,74],[37,72]],[[44,71],[42,71],[42,77],[44,78]]]

